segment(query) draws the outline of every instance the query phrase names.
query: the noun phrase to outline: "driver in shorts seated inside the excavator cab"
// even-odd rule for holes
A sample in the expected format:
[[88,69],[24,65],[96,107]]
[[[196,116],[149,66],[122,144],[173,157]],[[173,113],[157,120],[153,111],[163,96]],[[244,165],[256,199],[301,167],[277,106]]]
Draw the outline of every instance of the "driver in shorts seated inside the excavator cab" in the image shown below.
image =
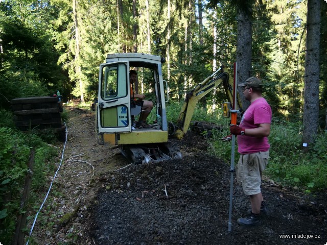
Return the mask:
[[137,128],[151,128],[151,125],[147,123],[147,117],[150,114],[152,108],[153,108],[153,102],[151,101],[146,101],[145,95],[144,94],[137,94],[134,93],[133,85],[135,84],[137,79],[137,72],[135,70],[130,70],[129,71],[129,81],[130,81],[130,86],[131,86],[131,99],[135,100],[138,99],[137,105],[142,106],[142,111],[141,114],[139,115],[138,121],[136,123]]

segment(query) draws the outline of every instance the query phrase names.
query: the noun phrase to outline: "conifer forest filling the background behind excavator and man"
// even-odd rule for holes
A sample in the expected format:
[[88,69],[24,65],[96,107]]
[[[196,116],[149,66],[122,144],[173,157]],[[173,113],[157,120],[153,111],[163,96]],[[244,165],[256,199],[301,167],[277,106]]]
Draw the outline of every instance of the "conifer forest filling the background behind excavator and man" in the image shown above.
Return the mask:
[[[320,5],[318,13],[314,13],[319,16],[320,32],[315,40],[318,46],[312,48],[320,59],[316,65],[311,63],[317,75],[312,84],[317,87],[307,94],[315,97],[317,103],[306,113],[305,87],[310,85],[306,54],[311,51],[307,48],[311,37],[307,28],[309,3]],[[12,193],[19,193],[18,179],[26,173],[29,148],[37,145],[39,162],[55,155],[36,136],[22,135],[10,126],[12,99],[60,91],[64,102],[74,97],[92,102],[97,97],[99,64],[105,62],[106,55],[137,52],[166,59],[162,69],[170,89],[168,106],[175,108],[171,112],[178,111],[186,91],[220,65],[231,70],[233,62],[245,57],[246,50],[250,62],[247,67],[239,63],[239,81],[258,76],[273,111],[269,137],[273,151],[268,174],[275,180],[302,186],[307,192],[325,189],[326,13],[327,3],[322,0],[1,0],[0,194],[10,188]],[[240,28],[240,23],[247,21],[249,29]],[[242,30],[248,38],[242,37]],[[141,81],[137,89],[143,92],[149,86]],[[201,119],[217,117],[224,101],[225,92],[217,87],[200,101],[204,112],[199,113]],[[168,117],[177,118],[173,114]],[[306,141],[302,138],[306,124],[317,126],[310,135],[314,144],[309,152],[301,148]],[[221,144],[220,136],[208,141],[216,155],[217,149],[225,149],[218,156],[227,160],[230,149]],[[16,155],[15,165],[12,152],[17,145],[22,157]],[[42,180],[36,182],[41,186],[51,171],[42,169],[33,178]],[[0,204],[4,206],[0,207],[0,219],[6,218],[9,210],[18,210],[13,203]],[[7,227],[9,223],[14,227],[13,220],[6,222]]]

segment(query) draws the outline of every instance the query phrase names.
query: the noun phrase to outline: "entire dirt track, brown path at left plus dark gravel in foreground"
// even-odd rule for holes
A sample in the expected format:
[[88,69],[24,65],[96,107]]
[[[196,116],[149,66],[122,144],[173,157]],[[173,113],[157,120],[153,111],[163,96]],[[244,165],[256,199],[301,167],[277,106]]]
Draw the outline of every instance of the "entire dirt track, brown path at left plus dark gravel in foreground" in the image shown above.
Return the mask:
[[[229,166],[206,154],[194,133],[179,145],[179,161],[128,165],[120,149],[98,145],[90,110],[69,111],[65,162],[56,181],[53,229],[36,229],[37,244],[325,244],[326,193],[315,197],[269,180],[262,191],[269,212],[262,225],[236,224],[249,201],[233,188],[232,232],[228,233]],[[236,182],[236,181],[235,181]],[[163,190],[167,190],[166,192]],[[49,219],[50,220],[50,219]],[[50,220],[51,221],[51,220]],[[279,238],[279,234],[319,238]],[[316,237],[317,237],[316,236]]]

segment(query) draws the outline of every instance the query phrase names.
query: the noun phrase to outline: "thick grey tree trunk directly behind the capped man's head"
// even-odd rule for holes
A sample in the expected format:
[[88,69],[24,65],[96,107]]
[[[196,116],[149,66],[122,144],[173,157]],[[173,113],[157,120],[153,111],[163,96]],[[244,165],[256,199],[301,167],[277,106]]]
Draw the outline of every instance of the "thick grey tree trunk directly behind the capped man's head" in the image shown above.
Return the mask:
[[[252,60],[252,22],[246,13],[239,10],[237,26],[237,51],[238,83],[245,82],[251,76]],[[243,109],[246,110],[250,103],[245,100],[241,88],[239,88],[240,99]]]

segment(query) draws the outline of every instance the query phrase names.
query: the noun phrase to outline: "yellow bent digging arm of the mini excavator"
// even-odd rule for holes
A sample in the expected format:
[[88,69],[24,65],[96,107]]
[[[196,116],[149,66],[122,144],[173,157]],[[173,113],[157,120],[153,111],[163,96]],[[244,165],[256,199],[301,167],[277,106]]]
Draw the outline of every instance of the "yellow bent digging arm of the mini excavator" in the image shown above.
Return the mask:
[[[215,87],[223,84],[227,100],[232,105],[233,103],[233,76],[230,75],[225,66],[221,66],[211,76],[204,79],[201,83],[197,84],[191,91],[186,93],[184,104],[180,110],[176,125],[171,125],[170,135],[174,138],[181,139],[184,137],[189,129],[191,119],[198,101],[211,92]],[[242,104],[239,95],[235,109],[242,112]]]

